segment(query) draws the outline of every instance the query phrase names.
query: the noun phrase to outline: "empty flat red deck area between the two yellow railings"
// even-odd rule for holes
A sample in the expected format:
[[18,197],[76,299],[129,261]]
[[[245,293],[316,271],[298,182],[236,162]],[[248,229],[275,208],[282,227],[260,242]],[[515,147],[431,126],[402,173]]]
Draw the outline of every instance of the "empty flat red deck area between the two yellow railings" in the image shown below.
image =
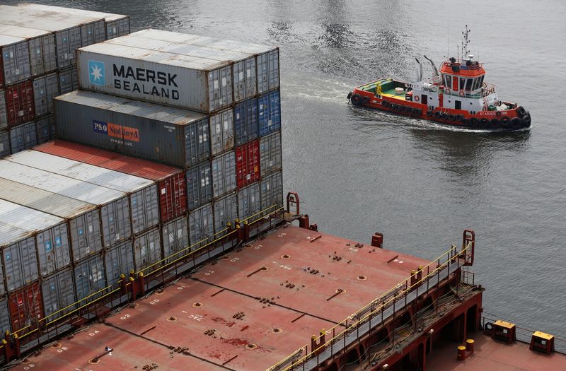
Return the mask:
[[279,228],[13,370],[265,370],[420,264],[427,261]]

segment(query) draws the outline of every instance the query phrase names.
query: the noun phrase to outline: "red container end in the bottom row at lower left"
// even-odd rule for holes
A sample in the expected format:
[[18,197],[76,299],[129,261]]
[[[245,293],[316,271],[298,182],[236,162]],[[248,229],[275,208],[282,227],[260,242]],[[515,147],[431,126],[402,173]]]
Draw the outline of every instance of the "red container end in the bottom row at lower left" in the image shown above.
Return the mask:
[[12,332],[30,326],[25,331],[18,333],[19,336],[22,336],[37,328],[38,321],[43,318],[42,302],[39,282],[30,283],[9,294],[8,307],[10,309]]

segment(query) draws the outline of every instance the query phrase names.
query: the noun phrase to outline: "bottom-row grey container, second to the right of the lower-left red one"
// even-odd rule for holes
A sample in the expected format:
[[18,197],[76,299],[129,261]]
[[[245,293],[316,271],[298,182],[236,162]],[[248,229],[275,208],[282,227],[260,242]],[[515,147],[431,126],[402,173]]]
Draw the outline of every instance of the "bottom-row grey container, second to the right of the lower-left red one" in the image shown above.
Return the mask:
[[100,292],[106,287],[104,260],[100,254],[80,261],[76,264],[73,273],[76,284],[76,299],[82,301],[81,305],[100,298],[106,293],[106,291]]

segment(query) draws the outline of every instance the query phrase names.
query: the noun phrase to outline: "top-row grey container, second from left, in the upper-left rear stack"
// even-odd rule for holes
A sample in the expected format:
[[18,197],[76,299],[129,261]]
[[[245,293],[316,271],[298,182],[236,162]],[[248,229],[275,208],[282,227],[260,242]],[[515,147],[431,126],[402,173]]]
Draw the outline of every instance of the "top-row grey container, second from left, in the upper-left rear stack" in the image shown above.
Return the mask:
[[[33,27],[34,25],[30,24],[30,26]],[[57,69],[55,35],[51,31],[17,25],[0,25],[0,35],[23,37],[28,40],[31,76]]]

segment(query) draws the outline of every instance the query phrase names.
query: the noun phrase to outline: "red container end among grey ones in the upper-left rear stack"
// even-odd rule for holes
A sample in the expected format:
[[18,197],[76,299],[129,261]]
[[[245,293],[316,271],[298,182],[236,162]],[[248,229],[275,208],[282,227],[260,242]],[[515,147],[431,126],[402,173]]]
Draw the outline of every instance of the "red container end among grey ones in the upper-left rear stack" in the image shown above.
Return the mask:
[[6,88],[6,113],[8,126],[23,124],[35,118],[35,98],[31,80]]

